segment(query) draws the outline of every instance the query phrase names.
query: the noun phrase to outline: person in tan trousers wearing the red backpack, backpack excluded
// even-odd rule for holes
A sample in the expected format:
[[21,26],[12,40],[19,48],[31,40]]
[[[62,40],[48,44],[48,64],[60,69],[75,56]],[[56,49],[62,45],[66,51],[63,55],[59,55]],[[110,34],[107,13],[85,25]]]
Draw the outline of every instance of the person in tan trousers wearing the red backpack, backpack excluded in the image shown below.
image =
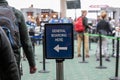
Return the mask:
[[[85,31],[84,32],[77,32],[77,53],[78,57],[81,57],[81,43],[83,40],[83,35],[84,33],[88,33],[88,28],[92,28],[92,26],[88,25],[88,18],[86,17],[87,11],[82,10],[81,11],[82,15],[80,17],[83,17],[83,25],[85,26]],[[86,58],[89,57],[89,36],[84,36],[84,42],[85,42],[85,55]]]

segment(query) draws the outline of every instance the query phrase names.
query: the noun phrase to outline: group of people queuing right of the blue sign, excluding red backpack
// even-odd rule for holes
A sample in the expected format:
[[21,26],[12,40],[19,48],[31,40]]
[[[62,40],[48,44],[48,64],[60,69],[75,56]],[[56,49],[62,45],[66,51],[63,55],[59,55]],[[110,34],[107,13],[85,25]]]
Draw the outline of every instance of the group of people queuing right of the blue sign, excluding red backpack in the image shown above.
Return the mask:
[[[89,33],[88,29],[95,29],[95,34],[105,35],[105,36],[112,36],[112,37],[119,37],[120,35],[120,19],[118,21],[115,21],[111,17],[108,17],[106,11],[101,11],[101,14],[97,16],[96,24],[94,26],[89,25],[88,18],[86,17],[87,11],[83,10],[82,15],[80,17],[83,17],[83,25],[85,27],[85,30],[83,32],[77,32],[77,53],[78,57],[81,57],[81,42],[84,40],[84,50],[85,50],[85,57],[89,58],[89,36],[84,35],[84,33]],[[99,38],[99,37],[98,37]],[[96,48],[96,61],[100,60],[100,39],[97,39],[97,48]],[[116,40],[115,44],[113,44],[116,48]],[[101,53],[102,56],[105,57],[106,61],[110,61],[110,53],[108,53],[108,42],[109,40],[106,37],[102,37],[101,39]],[[116,52],[112,54],[113,57],[116,56]]]

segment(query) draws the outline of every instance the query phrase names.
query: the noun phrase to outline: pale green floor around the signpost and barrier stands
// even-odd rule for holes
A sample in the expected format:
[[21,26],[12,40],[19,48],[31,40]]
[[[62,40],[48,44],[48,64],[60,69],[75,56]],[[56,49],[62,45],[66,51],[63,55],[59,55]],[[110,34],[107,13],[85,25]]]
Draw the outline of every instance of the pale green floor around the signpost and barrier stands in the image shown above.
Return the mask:
[[[96,69],[99,66],[99,61],[96,61],[95,58],[96,43],[91,43],[90,58],[85,59],[88,63],[80,63],[82,58],[77,57],[76,43],[74,46],[74,58],[63,62],[64,80],[109,80],[110,77],[115,77],[116,59],[113,57],[110,58],[111,62],[106,62],[103,58],[103,66],[107,67],[106,69]],[[49,73],[39,73],[39,71],[43,70],[43,64],[40,63],[43,59],[42,45],[36,46],[35,52],[37,72],[35,74],[29,74],[27,61],[22,61],[22,80],[56,80],[56,61],[47,59],[45,70],[49,71]],[[108,53],[112,53],[111,41]]]

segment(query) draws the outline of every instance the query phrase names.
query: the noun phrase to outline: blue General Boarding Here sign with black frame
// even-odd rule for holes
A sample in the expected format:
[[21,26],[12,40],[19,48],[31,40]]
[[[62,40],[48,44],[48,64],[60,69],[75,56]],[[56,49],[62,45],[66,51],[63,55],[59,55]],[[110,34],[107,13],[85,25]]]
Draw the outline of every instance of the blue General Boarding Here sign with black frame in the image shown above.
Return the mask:
[[73,24],[45,24],[46,58],[72,59],[73,52]]

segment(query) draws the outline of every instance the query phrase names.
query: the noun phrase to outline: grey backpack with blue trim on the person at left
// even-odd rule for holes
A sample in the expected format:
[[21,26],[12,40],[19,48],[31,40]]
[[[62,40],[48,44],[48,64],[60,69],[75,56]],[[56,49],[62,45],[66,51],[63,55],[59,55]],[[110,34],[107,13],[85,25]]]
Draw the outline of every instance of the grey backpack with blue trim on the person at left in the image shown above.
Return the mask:
[[0,26],[5,31],[12,48],[20,48],[19,28],[16,24],[16,17],[12,7],[0,6]]

